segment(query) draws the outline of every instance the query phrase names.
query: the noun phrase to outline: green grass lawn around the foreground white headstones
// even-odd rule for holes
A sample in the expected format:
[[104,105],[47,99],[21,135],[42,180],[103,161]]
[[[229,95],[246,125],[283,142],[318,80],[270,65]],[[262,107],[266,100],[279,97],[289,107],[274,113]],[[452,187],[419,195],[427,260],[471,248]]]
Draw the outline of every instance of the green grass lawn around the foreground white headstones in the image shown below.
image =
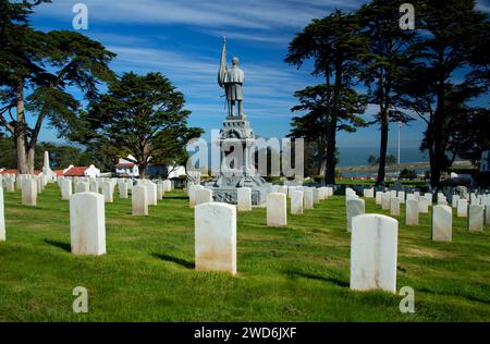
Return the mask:
[[[351,292],[344,197],[289,214],[267,228],[266,209],[237,216],[238,273],[194,270],[194,211],[182,191],[167,193],[148,217],[131,199],[106,205],[107,251],[70,254],[69,202],[56,184],[34,208],[4,193],[7,242],[0,243],[0,321],[490,321],[490,228],[468,233],[453,218],[453,242],[430,239],[400,220],[397,290],[403,296]],[[366,212],[388,212],[366,200]],[[88,312],[74,314],[75,286],[88,290]]]

